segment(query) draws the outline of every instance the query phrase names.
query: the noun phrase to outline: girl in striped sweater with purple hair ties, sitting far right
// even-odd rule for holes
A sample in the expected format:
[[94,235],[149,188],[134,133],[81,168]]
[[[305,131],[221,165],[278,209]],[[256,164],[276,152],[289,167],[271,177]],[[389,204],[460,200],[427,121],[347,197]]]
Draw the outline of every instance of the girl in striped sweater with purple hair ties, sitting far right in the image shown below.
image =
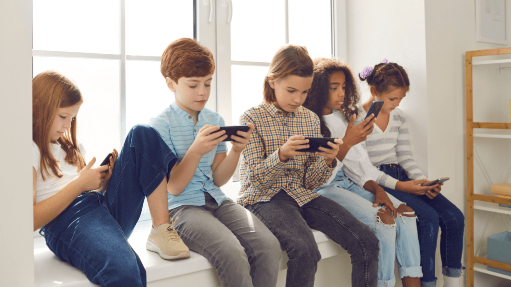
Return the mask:
[[444,286],[458,286],[464,217],[454,204],[440,194],[442,184],[429,186],[427,190],[425,186],[417,185],[426,185],[428,181],[413,160],[405,115],[398,108],[410,86],[408,75],[402,66],[384,60],[374,68],[365,68],[359,77],[361,81],[367,81],[370,88],[369,98],[359,107],[360,118],[365,116],[373,101],[385,102],[365,146],[373,165],[397,181],[395,188],[385,187],[385,190],[410,206],[419,218],[417,232],[424,274],[421,284],[425,287],[436,284],[435,249],[440,226]]

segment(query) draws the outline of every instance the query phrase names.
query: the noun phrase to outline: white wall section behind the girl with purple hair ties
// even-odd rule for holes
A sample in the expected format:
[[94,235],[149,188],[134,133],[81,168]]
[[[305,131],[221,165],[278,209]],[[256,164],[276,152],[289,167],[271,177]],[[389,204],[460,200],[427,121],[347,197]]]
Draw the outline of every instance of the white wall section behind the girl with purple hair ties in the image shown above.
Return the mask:
[[[407,71],[410,92],[401,102],[400,108],[408,115],[415,160],[427,176],[424,3],[407,0],[349,0],[346,1],[346,11],[347,63],[357,75],[362,68],[374,66],[385,58],[402,65]],[[364,101],[369,90],[366,82],[361,82],[360,87]]]

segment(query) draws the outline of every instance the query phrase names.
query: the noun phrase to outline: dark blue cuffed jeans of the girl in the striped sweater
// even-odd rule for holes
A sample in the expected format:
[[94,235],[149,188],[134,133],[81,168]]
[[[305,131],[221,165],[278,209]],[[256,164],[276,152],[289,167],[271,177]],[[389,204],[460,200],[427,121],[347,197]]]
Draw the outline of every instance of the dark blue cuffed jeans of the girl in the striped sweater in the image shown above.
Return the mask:
[[[378,169],[400,181],[409,181],[405,171],[398,164],[384,164]],[[449,277],[461,276],[461,254],[463,251],[463,213],[442,193],[434,199],[427,196],[415,196],[384,187],[387,193],[406,202],[417,214],[417,234],[421,248],[421,266],[424,276],[421,284],[425,287],[436,285],[435,251],[440,227],[440,257],[442,273]]]

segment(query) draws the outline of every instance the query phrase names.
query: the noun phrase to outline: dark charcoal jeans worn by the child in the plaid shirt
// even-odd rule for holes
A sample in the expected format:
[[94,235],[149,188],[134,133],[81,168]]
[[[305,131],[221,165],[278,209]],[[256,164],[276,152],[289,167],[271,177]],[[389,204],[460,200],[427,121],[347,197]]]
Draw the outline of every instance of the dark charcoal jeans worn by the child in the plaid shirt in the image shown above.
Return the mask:
[[320,196],[298,206],[281,190],[270,201],[245,207],[266,224],[286,251],[287,287],[314,285],[321,254],[311,228],[327,234],[351,255],[352,286],[377,286],[378,239],[367,225],[335,201]]

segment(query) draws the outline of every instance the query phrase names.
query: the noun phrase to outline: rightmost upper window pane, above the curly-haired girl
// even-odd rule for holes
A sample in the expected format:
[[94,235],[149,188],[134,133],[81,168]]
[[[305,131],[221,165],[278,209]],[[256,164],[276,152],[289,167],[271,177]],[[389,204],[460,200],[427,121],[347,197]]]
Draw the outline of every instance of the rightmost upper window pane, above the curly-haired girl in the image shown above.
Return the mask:
[[311,57],[332,57],[331,0],[289,0],[289,42]]

